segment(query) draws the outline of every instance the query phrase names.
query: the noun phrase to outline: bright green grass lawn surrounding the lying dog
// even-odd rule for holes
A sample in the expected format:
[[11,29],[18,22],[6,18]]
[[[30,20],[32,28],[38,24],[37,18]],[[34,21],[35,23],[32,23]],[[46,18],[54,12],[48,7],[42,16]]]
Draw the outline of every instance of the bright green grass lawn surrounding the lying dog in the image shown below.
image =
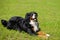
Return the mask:
[[[12,16],[24,17],[27,12],[38,13],[39,26],[49,33],[50,40],[60,40],[60,0],[0,0],[0,20]],[[0,40],[42,40],[25,32],[8,30],[0,22]]]

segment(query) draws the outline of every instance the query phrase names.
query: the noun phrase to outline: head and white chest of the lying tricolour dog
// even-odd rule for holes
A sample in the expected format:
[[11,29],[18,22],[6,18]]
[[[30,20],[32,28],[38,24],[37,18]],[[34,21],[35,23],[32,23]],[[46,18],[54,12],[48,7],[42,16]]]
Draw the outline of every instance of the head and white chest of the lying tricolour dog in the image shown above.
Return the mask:
[[25,16],[25,18],[27,19],[27,22],[29,22],[29,24],[32,26],[32,30],[34,32],[38,32],[40,30],[37,17],[38,17],[38,14],[36,12],[29,12]]

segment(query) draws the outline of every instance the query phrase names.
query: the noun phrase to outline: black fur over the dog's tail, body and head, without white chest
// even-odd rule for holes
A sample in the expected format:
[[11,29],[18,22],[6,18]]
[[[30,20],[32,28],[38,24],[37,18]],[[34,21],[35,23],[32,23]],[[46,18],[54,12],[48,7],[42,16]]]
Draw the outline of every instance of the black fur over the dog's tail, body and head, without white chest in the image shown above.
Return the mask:
[[[25,31],[26,33],[29,33],[31,35],[36,35],[36,33],[32,30],[32,26],[29,24],[30,22],[30,16],[35,12],[27,13],[25,18],[14,16],[9,19],[9,21],[1,20],[1,23],[3,26],[7,27],[7,29],[13,29],[13,30],[19,30],[19,31]],[[37,13],[35,13],[37,16]],[[36,18],[37,19],[37,18]]]

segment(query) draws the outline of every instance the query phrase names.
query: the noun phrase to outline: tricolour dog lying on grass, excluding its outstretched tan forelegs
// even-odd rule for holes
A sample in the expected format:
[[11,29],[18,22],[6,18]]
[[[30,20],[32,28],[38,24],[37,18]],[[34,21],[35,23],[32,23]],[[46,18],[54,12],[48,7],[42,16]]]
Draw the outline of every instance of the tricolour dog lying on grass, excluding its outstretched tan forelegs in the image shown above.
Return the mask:
[[38,14],[36,12],[26,13],[25,18],[19,16],[13,16],[8,21],[2,19],[1,23],[7,29],[13,29],[18,31],[25,31],[30,35],[37,35],[40,31],[39,23],[37,20]]

